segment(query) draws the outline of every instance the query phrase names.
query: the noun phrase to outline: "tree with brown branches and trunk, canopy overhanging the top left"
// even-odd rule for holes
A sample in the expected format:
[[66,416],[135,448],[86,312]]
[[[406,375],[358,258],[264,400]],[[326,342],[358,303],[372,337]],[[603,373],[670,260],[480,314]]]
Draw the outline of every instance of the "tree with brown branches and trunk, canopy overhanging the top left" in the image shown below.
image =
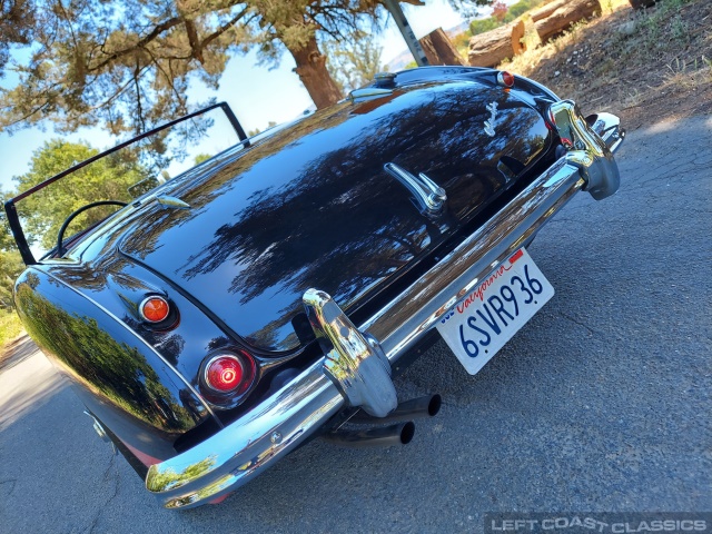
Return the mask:
[[[487,3],[449,2],[463,11]],[[387,14],[377,0],[11,0],[2,6],[0,78],[9,70],[20,81],[0,89],[0,131],[51,120],[61,131],[105,126],[117,136],[204,107],[208,102],[188,102],[190,85],[217,88],[229,58],[250,49],[274,66],[286,48],[312,98],[336,101],[319,44],[377,31]],[[10,59],[11,47],[23,53]]]

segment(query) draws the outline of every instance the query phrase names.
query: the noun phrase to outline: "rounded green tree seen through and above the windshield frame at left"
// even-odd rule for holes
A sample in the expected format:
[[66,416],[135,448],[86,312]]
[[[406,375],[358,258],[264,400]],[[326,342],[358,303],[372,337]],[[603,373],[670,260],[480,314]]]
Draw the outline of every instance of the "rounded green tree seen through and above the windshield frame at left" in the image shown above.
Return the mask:
[[[97,154],[97,149],[82,144],[60,139],[47,141],[34,151],[29,172],[14,178],[18,191],[24,191]],[[128,202],[131,199],[128,187],[147,177],[136,156],[129,150],[120,150],[30,195],[17,204],[28,241],[46,250],[52,248],[60,226],[72,211],[96,200]],[[115,210],[116,207],[111,206],[89,209],[79,215],[70,228],[86,228]],[[66,237],[71,234],[69,229]]]

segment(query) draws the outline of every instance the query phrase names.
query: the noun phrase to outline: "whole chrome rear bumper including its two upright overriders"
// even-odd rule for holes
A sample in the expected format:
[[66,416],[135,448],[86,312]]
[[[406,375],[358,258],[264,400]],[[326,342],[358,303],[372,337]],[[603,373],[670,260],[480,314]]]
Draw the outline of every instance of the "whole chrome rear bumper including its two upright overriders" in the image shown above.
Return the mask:
[[624,131],[601,113],[592,128],[571,101],[552,106],[570,150],[425,276],[356,327],[328,295],[305,294],[325,356],[218,434],[152,465],[146,487],[168,508],[210,502],[245,484],[318,431],[344,406],[382,416],[395,407],[390,364],[532,237],[580,189],[615,192],[612,151]]

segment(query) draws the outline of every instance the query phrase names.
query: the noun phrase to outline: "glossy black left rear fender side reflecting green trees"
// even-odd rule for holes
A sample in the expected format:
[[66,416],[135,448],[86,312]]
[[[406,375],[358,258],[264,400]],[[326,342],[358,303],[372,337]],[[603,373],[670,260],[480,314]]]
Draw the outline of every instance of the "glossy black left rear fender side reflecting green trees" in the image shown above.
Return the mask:
[[89,408],[145,464],[212,418],[195,389],[103,307],[39,267],[17,281],[24,327]]

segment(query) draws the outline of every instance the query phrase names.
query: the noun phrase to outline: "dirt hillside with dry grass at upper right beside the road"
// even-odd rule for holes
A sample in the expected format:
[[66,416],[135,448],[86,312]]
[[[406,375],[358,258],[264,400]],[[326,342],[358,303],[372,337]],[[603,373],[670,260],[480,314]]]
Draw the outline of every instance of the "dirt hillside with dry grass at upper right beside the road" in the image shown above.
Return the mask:
[[586,113],[614,112],[629,130],[712,113],[710,0],[661,0],[641,11],[619,3],[531,52],[502,68],[572,98]]

